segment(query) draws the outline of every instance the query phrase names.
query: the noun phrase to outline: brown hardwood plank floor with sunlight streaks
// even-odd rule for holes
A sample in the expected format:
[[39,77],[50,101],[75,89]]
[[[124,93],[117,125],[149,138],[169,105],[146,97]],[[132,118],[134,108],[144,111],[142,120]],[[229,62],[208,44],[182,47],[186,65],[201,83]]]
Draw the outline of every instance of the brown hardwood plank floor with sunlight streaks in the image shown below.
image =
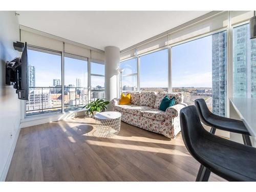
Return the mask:
[[20,130],[6,181],[195,181],[199,163],[181,134],[170,141],[121,122],[118,136],[98,138],[95,123],[80,117]]

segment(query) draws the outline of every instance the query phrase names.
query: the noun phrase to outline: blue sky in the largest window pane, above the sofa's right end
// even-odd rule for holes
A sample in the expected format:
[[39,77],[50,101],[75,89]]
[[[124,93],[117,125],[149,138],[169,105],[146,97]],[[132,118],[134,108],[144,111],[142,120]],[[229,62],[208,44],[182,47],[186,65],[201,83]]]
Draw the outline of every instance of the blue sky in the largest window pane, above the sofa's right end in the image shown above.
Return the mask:
[[211,35],[173,47],[172,86],[211,88],[211,59]]

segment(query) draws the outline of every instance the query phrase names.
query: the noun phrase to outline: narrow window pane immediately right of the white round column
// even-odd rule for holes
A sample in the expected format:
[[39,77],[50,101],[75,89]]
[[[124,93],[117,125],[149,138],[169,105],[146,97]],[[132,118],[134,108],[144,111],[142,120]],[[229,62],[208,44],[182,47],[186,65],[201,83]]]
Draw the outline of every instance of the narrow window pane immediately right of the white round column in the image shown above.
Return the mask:
[[120,62],[121,90],[137,91],[137,58]]

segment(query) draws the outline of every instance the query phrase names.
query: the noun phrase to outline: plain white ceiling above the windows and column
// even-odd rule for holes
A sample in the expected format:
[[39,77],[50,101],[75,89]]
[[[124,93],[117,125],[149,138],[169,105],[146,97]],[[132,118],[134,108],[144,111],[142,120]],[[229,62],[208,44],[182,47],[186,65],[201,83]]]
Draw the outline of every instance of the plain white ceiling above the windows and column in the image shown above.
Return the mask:
[[19,24],[104,50],[120,50],[209,11],[18,11]]

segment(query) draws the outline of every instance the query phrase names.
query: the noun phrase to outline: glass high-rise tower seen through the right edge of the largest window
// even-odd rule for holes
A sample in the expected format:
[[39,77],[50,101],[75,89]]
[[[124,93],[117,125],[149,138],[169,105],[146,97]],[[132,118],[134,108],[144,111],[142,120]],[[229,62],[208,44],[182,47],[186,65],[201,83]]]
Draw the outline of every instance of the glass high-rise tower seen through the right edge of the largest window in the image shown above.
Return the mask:
[[226,115],[226,32],[212,35],[212,113]]

